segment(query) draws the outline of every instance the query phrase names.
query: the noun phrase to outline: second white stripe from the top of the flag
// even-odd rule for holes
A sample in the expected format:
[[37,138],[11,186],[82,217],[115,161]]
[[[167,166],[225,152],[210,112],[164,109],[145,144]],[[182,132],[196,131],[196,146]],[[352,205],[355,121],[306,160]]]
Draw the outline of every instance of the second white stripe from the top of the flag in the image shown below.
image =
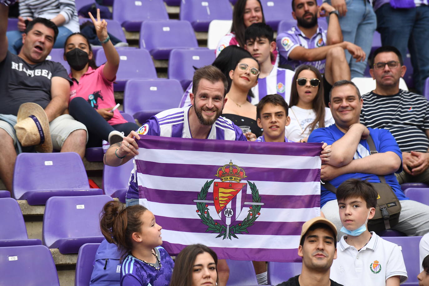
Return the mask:
[[[149,189],[165,190],[167,191],[195,191],[195,199],[198,195],[201,187],[204,186],[206,181],[215,179],[194,179],[194,178],[174,178],[174,177],[161,177],[154,175],[146,175],[137,173],[137,181],[139,185],[143,185]],[[195,181],[201,182],[201,187],[198,190],[190,190],[190,186],[194,186]],[[218,179],[216,180],[218,181]],[[320,190],[320,182],[270,182],[270,181],[253,181],[249,180],[256,185],[260,195],[275,195],[275,196],[305,196],[305,195],[318,195]],[[246,180],[242,182],[246,183]],[[208,191],[213,193],[213,187]],[[248,187],[248,193],[250,193],[250,187]]]

